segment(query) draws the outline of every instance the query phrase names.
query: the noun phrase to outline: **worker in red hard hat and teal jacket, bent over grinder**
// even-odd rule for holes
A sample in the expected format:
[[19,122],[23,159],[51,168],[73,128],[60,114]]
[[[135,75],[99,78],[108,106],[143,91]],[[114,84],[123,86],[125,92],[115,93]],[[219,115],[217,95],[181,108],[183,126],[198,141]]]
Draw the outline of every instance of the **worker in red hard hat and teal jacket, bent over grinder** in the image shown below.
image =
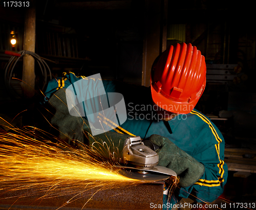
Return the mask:
[[[67,105],[63,105],[66,99],[63,90],[70,85],[75,87],[79,80],[88,81],[82,91],[91,91],[90,85],[96,82],[90,77],[65,73],[49,82],[45,96],[56,110],[51,123],[59,131],[59,137],[86,144],[83,135],[86,114],[81,120],[70,115]],[[114,128],[113,132],[138,135],[159,146],[158,165],[174,170],[180,177],[178,188],[168,202],[174,204],[189,196],[197,202],[212,202],[222,194],[227,181],[224,139],[218,128],[195,109],[206,84],[205,59],[196,46],[177,43],[158,56],[152,66],[151,87],[112,80],[102,83],[105,92],[123,95],[127,114],[127,120],[118,127],[111,120],[106,124]],[[97,123],[93,126],[97,127]]]

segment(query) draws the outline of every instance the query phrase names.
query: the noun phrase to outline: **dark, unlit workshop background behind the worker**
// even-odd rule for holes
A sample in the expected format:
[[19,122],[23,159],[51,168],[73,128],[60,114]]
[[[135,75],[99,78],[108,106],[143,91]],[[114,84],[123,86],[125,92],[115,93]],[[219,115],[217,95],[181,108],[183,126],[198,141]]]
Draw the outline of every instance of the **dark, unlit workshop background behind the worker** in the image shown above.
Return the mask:
[[[4,7],[8,1],[0,2],[1,116],[13,119],[37,98],[24,99],[18,83],[11,85],[11,91],[5,86],[5,66],[11,56],[4,51],[23,50],[26,8]],[[227,147],[255,151],[256,30],[252,7],[247,1],[38,0],[35,53],[51,60],[46,62],[54,77],[68,71],[83,76],[100,73],[103,79],[148,86],[144,66],[153,63],[168,45],[190,42],[205,56],[207,68],[208,64],[218,64],[220,69],[220,64],[234,64],[239,69],[228,70],[231,79],[221,79],[218,74],[214,81],[207,78],[196,108],[214,117],[221,110],[231,111],[227,119],[212,119]],[[10,44],[11,31],[17,39],[15,46]],[[153,38],[148,38],[151,35]],[[146,56],[151,56],[150,61],[145,60]],[[22,60],[17,62],[13,77],[22,78],[22,65]],[[39,80],[37,68],[35,65]],[[229,173],[232,177],[234,172]],[[243,181],[237,185],[237,179],[233,179],[227,184],[229,195],[253,194]],[[253,180],[249,178],[255,184]]]

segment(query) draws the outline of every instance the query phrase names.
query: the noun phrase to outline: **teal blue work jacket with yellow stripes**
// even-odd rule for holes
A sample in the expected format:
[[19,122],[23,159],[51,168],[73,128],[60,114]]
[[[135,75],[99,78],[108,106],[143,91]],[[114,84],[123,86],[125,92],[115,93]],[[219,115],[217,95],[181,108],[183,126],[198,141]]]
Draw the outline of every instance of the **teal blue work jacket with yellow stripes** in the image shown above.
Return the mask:
[[[65,73],[63,77],[51,80],[45,92],[46,101],[56,90],[67,88],[80,79],[90,80],[87,77],[75,76],[73,73]],[[202,177],[187,188],[178,187],[177,197],[173,197],[172,202],[187,198],[190,194],[198,202],[212,202],[223,193],[228,171],[223,161],[224,138],[207,116],[194,109],[188,114],[179,114],[174,119],[164,122],[158,119],[152,107],[150,88],[112,80],[102,82],[105,92],[120,92],[126,105],[127,120],[113,129],[113,132],[138,135],[142,139],[159,134],[167,137],[204,165],[205,172]],[[108,123],[114,125],[116,122]]]

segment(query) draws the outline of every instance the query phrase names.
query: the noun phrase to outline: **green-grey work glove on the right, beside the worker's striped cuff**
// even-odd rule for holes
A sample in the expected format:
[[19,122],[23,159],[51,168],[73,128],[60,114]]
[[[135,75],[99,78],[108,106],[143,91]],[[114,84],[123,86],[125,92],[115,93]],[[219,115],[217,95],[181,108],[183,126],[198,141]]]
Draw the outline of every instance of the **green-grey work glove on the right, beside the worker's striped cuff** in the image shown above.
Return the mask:
[[150,141],[159,146],[159,166],[174,170],[180,177],[180,186],[186,188],[197,182],[204,173],[204,165],[178,148],[168,138],[153,134]]

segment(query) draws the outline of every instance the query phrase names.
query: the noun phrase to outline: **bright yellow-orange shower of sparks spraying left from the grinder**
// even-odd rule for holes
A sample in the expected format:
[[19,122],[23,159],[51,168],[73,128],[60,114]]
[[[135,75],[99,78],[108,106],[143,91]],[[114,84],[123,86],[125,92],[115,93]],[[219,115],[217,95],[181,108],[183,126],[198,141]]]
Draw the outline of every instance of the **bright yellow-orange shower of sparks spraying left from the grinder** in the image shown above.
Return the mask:
[[[40,137],[38,129],[0,130],[0,198],[9,192],[33,189],[50,198],[100,188],[135,186],[143,181],[118,174],[111,161],[100,161],[89,149],[76,149],[65,143],[53,143]],[[35,134],[37,133],[37,134]],[[40,131],[42,134],[46,134]],[[17,195],[17,198],[30,195]],[[76,196],[69,200],[76,200]]]

